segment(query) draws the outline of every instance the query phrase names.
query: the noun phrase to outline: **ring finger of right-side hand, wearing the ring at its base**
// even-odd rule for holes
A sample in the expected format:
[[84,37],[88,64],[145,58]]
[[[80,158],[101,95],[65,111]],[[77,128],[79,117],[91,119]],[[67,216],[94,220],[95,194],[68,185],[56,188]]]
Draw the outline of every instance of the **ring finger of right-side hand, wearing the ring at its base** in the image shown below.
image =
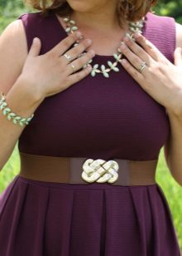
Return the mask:
[[133,53],[124,42],[122,42],[121,51],[122,54],[127,57],[127,60],[131,62],[132,66],[138,69],[142,62],[141,58],[137,57],[136,54]]

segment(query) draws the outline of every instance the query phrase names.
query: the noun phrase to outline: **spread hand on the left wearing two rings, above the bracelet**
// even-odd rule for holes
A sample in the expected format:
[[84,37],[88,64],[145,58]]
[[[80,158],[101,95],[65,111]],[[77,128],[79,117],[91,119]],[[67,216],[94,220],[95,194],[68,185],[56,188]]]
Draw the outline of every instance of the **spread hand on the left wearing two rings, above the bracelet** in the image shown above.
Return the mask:
[[[89,62],[94,56],[93,50],[90,50],[84,56],[79,57],[84,50],[91,45],[88,39],[79,42],[79,45],[71,48],[77,40],[80,39],[81,34],[74,32],[66,37],[63,41],[58,43],[50,52],[39,55],[41,51],[41,40],[36,37],[31,45],[30,52],[26,57],[26,62],[22,69],[22,74],[19,76],[21,81],[24,81],[33,93],[40,99],[47,96],[55,95],[64,91],[69,86],[77,81],[82,80],[88,76],[91,71],[91,66],[84,70],[81,68]],[[70,62],[64,57],[64,54],[72,57],[71,63],[75,67],[75,72]],[[76,59],[79,57],[78,59]],[[79,71],[80,70],[80,71]]]

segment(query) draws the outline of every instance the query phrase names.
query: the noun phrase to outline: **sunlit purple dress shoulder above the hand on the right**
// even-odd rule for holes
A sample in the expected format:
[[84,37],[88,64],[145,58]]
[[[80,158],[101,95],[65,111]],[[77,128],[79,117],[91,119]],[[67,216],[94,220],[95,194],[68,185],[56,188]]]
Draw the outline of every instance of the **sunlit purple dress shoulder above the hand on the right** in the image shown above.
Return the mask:
[[145,37],[151,41],[170,62],[174,62],[176,46],[175,18],[158,16],[148,12],[146,15]]

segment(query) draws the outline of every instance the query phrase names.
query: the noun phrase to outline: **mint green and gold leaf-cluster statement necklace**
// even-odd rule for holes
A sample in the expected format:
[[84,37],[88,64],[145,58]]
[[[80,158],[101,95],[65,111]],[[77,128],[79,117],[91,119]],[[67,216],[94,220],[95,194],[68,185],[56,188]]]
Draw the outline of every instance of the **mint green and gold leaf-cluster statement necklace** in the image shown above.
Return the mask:
[[[70,19],[70,16],[64,17],[63,20],[66,23],[65,32],[67,32],[68,35],[69,33],[74,33],[76,30],[79,29],[79,27],[76,26],[76,22],[74,22],[73,19]],[[144,22],[145,22],[145,17],[142,17],[141,20],[139,20],[138,22],[129,22],[130,32],[127,32],[126,36],[130,37],[133,41],[135,41],[133,34],[135,32],[142,33],[142,27],[144,26]],[[78,45],[79,45],[79,41],[74,43],[74,47]],[[79,57],[82,57],[84,54],[86,54],[86,52],[83,52],[82,54],[80,54]],[[108,61],[107,67],[105,65],[101,65],[99,68],[98,64],[94,64],[92,66],[92,71],[90,72],[90,75],[96,76],[96,74],[100,73],[100,74],[103,74],[103,76],[108,78],[110,71],[118,72],[119,68],[117,67],[117,65],[118,65],[118,62],[121,62],[121,59],[122,59],[122,52],[120,51],[120,49],[117,49],[117,53],[114,53],[113,57],[114,57],[114,62]],[[92,62],[93,60],[90,60],[86,65],[83,66],[83,69],[88,65],[91,65]]]

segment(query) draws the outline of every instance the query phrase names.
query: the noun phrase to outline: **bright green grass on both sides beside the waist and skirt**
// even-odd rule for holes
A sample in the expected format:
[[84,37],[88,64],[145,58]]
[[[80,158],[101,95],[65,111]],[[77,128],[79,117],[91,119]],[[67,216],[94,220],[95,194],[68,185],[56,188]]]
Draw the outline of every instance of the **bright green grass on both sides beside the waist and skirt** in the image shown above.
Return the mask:
[[[16,149],[13,151],[11,158],[7,161],[0,172],[0,193],[4,190],[12,179],[17,175],[20,168],[19,155]],[[160,160],[157,165],[156,180],[165,193],[165,197],[170,204],[170,209],[175,223],[175,229],[182,249],[182,188],[170,175],[165,164],[163,149],[160,151]]]

